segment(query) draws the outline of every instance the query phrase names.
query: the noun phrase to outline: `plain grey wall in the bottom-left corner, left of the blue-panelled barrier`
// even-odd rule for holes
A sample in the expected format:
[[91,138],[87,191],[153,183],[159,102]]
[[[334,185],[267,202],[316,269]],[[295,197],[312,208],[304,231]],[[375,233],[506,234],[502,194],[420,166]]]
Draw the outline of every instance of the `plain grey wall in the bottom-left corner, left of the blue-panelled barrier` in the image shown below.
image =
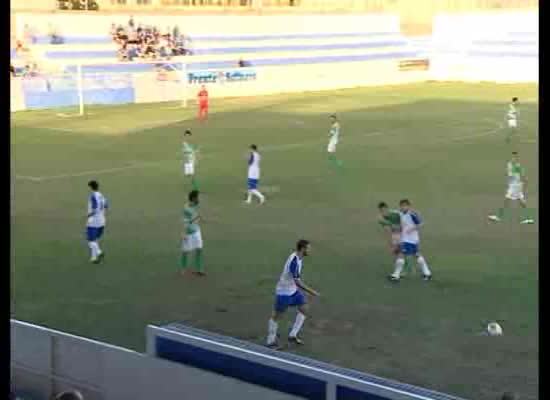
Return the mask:
[[87,400],[298,400],[261,386],[36,325],[11,321],[11,383],[49,399],[79,389]]

